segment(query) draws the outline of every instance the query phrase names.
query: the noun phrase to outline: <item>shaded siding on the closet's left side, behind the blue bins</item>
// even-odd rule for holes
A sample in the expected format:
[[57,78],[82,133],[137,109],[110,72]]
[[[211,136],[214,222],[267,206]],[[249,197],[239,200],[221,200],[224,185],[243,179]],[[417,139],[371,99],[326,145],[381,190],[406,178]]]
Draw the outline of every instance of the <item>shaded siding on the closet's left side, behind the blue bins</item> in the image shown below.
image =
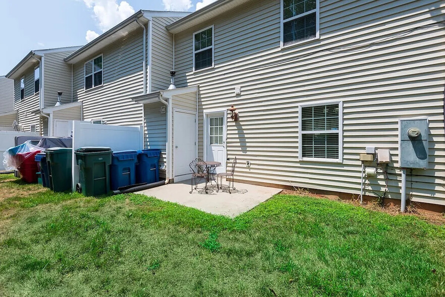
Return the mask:
[[[144,149],[159,149],[161,157],[160,168],[166,164],[167,122],[166,113],[161,113],[162,103],[144,105]],[[165,170],[161,170],[161,178],[165,178]]]

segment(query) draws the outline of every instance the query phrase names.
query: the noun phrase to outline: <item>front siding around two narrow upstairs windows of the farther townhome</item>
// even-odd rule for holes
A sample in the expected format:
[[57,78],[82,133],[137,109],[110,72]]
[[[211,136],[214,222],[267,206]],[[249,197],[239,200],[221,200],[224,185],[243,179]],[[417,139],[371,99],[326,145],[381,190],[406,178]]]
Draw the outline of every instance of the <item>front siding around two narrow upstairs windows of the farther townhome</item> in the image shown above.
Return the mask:
[[[36,63],[35,66],[37,66]],[[20,78],[14,80],[14,96],[17,101],[14,109],[17,110],[18,122],[22,126],[22,131],[31,131],[30,125],[36,125],[36,131],[40,131],[39,116],[33,115],[39,109],[39,92],[34,93],[34,67],[25,72],[25,98],[20,100]]]

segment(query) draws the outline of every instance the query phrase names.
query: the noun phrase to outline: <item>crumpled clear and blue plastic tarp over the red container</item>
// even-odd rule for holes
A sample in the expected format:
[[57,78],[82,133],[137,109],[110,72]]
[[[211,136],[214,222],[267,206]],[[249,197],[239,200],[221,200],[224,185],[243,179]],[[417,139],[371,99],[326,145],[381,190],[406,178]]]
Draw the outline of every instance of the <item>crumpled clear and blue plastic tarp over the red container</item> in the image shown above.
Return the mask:
[[[5,153],[3,153],[3,165],[6,170],[18,170],[20,165],[24,162],[35,162],[35,154],[29,154],[33,152],[41,152],[45,149],[36,145],[33,145],[29,141],[23,144],[11,147]],[[29,158],[32,158],[29,159]],[[29,160],[28,160],[29,159]]]

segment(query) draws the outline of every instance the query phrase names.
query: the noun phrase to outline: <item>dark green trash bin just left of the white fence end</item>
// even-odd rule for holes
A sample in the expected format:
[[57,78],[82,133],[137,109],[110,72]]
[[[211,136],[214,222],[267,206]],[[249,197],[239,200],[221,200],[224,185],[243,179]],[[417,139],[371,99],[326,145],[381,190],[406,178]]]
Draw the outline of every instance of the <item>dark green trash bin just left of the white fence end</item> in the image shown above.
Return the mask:
[[73,149],[51,147],[45,150],[49,188],[54,192],[71,190]]

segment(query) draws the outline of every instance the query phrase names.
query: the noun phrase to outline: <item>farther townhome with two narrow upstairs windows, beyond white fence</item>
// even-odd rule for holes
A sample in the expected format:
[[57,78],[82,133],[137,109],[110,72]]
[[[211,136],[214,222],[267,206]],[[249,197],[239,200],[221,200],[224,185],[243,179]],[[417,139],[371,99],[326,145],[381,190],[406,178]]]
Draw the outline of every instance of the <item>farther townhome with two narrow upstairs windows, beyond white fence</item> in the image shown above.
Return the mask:
[[[52,135],[56,120],[67,121],[72,113],[80,113],[81,107],[73,104],[71,65],[63,60],[79,47],[31,51],[7,74],[14,80],[14,111],[22,131]],[[59,103],[58,92],[63,93]],[[65,126],[62,134],[58,136],[69,136],[71,128]]]

